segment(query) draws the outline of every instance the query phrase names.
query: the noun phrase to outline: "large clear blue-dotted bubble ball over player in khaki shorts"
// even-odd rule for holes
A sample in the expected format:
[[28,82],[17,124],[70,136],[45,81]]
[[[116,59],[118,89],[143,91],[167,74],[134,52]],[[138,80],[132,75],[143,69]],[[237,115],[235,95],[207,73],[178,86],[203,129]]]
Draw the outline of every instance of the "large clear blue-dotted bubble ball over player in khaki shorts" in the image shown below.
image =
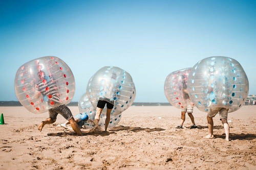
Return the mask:
[[208,57],[199,61],[188,80],[191,101],[205,112],[214,107],[236,111],[248,95],[249,82],[243,67],[228,57]]

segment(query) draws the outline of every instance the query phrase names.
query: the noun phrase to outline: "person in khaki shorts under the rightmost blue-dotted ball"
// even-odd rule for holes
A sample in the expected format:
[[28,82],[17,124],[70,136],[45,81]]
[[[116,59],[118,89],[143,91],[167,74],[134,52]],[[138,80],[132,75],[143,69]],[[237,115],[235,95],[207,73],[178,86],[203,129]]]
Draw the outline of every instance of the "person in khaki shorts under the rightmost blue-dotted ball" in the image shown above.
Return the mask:
[[[214,88],[211,86],[208,87],[208,92],[211,94],[214,94]],[[227,123],[227,114],[228,114],[228,108],[222,108],[222,107],[212,107],[209,109],[207,113],[207,123],[208,123],[208,135],[205,136],[205,138],[214,138],[214,120],[212,117],[214,117],[217,113],[220,113],[220,120],[223,124],[226,141],[229,141],[229,125]]]

